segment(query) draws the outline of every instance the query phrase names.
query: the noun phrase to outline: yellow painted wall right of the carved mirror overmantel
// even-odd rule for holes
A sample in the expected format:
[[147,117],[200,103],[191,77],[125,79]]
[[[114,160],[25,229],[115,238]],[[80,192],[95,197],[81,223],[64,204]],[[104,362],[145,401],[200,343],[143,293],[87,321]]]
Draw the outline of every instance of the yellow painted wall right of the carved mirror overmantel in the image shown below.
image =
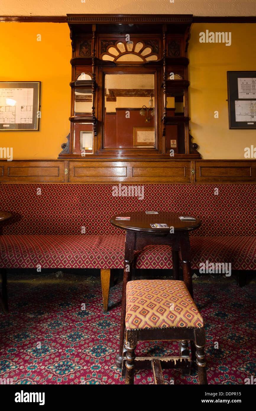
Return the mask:
[[[231,46],[200,43],[199,33],[231,32]],[[244,159],[256,130],[228,128],[227,71],[256,71],[256,24],[193,24],[189,41],[190,129],[204,159]],[[219,118],[214,118],[219,111]]]

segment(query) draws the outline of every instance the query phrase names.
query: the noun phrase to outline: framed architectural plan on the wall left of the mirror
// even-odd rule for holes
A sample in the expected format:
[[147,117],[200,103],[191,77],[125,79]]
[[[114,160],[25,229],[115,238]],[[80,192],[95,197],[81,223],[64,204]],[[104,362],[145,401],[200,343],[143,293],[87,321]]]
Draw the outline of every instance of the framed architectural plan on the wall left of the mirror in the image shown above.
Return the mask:
[[39,131],[40,81],[0,82],[0,131]]

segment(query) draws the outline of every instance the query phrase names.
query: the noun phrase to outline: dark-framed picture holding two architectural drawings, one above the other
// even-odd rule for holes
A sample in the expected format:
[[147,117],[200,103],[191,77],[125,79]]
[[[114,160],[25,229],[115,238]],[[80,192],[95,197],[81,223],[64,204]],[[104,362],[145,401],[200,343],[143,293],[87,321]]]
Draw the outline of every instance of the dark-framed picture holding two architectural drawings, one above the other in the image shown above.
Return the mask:
[[230,129],[256,128],[256,72],[227,72]]

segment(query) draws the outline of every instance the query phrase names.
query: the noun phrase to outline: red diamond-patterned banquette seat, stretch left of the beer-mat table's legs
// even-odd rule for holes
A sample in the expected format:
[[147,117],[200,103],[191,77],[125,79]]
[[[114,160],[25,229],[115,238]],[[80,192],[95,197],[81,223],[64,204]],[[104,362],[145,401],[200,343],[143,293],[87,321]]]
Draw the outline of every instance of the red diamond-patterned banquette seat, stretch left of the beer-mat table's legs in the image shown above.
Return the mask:
[[125,236],[0,236],[3,268],[121,268]]

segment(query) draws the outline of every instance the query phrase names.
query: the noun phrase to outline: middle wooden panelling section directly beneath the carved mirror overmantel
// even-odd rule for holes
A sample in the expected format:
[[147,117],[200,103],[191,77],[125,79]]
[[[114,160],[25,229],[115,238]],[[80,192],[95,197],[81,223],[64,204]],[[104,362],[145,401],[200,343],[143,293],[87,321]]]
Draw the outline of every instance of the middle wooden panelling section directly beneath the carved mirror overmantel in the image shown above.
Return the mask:
[[150,160],[69,160],[69,182],[191,182],[191,163]]

